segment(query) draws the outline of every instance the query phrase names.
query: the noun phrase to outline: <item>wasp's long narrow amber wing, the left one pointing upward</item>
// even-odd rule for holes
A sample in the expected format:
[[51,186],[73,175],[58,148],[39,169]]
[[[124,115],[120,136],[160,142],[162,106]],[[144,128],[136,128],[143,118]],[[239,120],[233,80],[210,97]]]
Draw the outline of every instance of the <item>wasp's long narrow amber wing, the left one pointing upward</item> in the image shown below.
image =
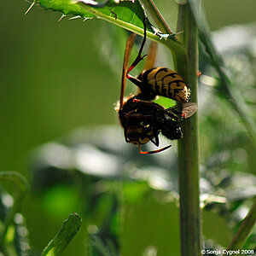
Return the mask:
[[129,67],[129,61],[131,58],[131,49],[132,49],[135,37],[136,37],[136,34],[131,33],[131,35],[129,36],[129,38],[127,39],[127,42],[126,42],[125,58],[124,58],[123,73],[122,73],[122,80],[121,80],[119,108],[123,108],[123,105],[124,105],[126,73],[127,73],[128,67]]

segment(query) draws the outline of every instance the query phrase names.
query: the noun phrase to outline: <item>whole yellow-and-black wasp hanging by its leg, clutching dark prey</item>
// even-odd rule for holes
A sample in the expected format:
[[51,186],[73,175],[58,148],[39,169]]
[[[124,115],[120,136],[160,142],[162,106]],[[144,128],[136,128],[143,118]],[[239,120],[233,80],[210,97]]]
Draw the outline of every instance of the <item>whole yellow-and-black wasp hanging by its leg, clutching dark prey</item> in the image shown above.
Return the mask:
[[[139,61],[143,60],[144,57],[142,57],[142,50],[146,42],[145,21],[142,46],[139,50],[136,60],[133,61],[131,67],[128,68],[131,56],[131,49],[135,36],[135,34],[131,34],[131,36],[127,40],[125,48],[125,59],[118,109],[119,121],[125,131],[126,143],[137,144],[140,154],[154,154],[170,148],[171,145],[166,146],[165,148],[146,152],[142,151],[141,146],[150,141],[151,143],[154,143],[156,147],[158,147],[160,143],[160,132],[162,133],[162,135],[171,140],[180,139],[181,137],[183,137],[179,121],[183,118],[189,118],[192,114],[194,114],[197,110],[197,105],[193,102],[187,102],[189,98],[189,90],[186,84],[183,82],[183,79],[181,79],[180,76],[177,75],[177,73],[171,71],[171,69],[167,69],[164,67],[153,68],[156,55],[155,43],[152,43],[150,45],[148,58],[145,61],[143,73],[141,73],[138,78],[131,77],[129,73],[134,67],[137,66]],[[160,81],[160,73],[163,74],[163,72],[166,72],[166,70],[169,71],[169,75],[167,75],[169,79],[172,77],[172,81],[174,81],[174,77],[178,78],[176,79],[175,83],[180,83],[179,86],[177,86],[180,88],[174,89],[171,88],[172,86],[169,86],[170,90],[165,92],[166,90],[163,90],[163,88],[166,87],[163,82],[161,83],[162,86],[160,87],[156,83],[153,83],[152,79],[149,81],[147,80],[147,78],[154,77],[154,81]],[[131,82],[136,84],[139,87],[140,91],[137,95],[130,96],[128,97],[128,99],[125,100],[124,95],[126,78],[130,79]],[[162,80],[164,80],[166,76],[163,76],[162,78]],[[157,95],[168,97],[171,97],[172,95],[172,99],[176,99],[180,103],[172,108],[164,108],[159,104],[152,102],[152,100],[154,100],[155,96]]]

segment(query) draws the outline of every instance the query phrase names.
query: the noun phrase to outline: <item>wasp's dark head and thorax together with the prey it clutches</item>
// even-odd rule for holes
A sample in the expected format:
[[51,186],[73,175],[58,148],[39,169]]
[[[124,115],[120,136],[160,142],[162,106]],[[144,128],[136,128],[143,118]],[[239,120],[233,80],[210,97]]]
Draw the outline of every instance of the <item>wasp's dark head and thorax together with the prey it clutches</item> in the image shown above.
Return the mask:
[[119,108],[119,120],[125,130],[125,142],[137,144],[140,154],[158,153],[171,145],[146,152],[142,151],[141,145],[150,141],[158,147],[160,132],[171,140],[182,138],[183,132],[178,121],[189,118],[197,107],[195,103],[186,102],[172,108],[163,108],[157,103],[141,100],[142,96],[131,96],[123,108]]

